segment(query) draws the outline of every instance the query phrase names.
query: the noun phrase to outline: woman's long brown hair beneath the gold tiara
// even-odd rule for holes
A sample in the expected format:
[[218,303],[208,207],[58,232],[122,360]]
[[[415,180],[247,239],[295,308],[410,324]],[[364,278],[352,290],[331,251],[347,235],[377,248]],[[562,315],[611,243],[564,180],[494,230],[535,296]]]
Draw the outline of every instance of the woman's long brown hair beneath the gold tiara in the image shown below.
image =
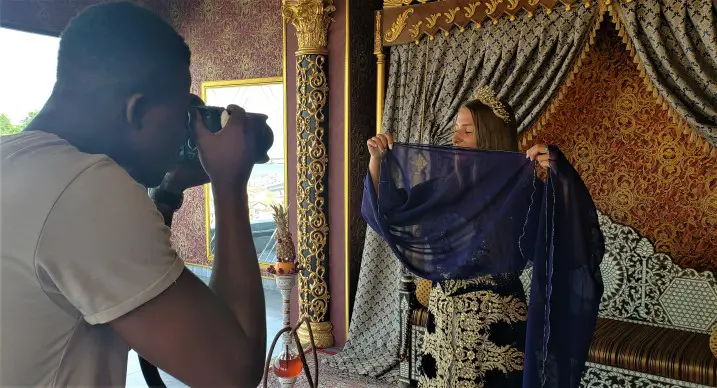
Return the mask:
[[491,107],[479,100],[470,100],[462,107],[471,111],[473,115],[475,124],[473,133],[479,149],[518,151],[518,130],[513,108],[505,101],[500,102],[508,112],[508,122],[496,116]]

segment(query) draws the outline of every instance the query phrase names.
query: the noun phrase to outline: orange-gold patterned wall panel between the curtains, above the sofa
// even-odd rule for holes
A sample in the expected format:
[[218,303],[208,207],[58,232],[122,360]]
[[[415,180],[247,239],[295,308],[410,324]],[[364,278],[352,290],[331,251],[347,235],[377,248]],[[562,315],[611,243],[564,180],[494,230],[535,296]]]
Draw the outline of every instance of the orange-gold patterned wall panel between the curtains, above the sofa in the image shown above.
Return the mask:
[[529,143],[559,146],[598,208],[676,263],[717,270],[717,160],[677,129],[606,27]]

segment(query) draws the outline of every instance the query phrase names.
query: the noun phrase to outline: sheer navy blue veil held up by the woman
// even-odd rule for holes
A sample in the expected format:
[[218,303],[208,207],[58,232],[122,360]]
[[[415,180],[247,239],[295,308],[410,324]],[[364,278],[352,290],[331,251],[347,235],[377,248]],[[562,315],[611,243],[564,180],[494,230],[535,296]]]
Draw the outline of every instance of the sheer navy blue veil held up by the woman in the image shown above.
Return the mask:
[[[362,213],[398,259],[426,279],[470,279],[533,266],[524,387],[577,387],[602,296],[595,206],[551,147],[545,184],[518,152],[394,144]],[[551,337],[551,332],[560,337]]]

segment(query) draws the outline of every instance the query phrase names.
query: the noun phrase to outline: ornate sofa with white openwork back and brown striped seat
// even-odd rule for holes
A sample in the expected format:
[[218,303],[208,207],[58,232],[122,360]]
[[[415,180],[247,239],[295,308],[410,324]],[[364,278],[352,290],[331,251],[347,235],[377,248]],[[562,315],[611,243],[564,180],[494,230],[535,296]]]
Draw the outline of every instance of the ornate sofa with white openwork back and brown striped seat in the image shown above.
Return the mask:
[[[603,214],[599,220],[605,235],[605,292],[581,386],[717,386],[717,358],[709,348],[710,333],[717,329],[714,275],[680,268],[634,229]],[[528,298],[530,275],[526,270],[521,277]],[[409,273],[402,275],[403,387],[416,384],[429,286]]]

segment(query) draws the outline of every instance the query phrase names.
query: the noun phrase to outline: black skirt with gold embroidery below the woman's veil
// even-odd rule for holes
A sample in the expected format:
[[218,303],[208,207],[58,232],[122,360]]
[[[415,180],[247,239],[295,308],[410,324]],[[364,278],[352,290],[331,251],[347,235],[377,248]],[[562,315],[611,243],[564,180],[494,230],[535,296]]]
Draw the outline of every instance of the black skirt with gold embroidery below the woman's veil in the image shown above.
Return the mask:
[[519,274],[434,285],[419,387],[520,387],[528,308]]

